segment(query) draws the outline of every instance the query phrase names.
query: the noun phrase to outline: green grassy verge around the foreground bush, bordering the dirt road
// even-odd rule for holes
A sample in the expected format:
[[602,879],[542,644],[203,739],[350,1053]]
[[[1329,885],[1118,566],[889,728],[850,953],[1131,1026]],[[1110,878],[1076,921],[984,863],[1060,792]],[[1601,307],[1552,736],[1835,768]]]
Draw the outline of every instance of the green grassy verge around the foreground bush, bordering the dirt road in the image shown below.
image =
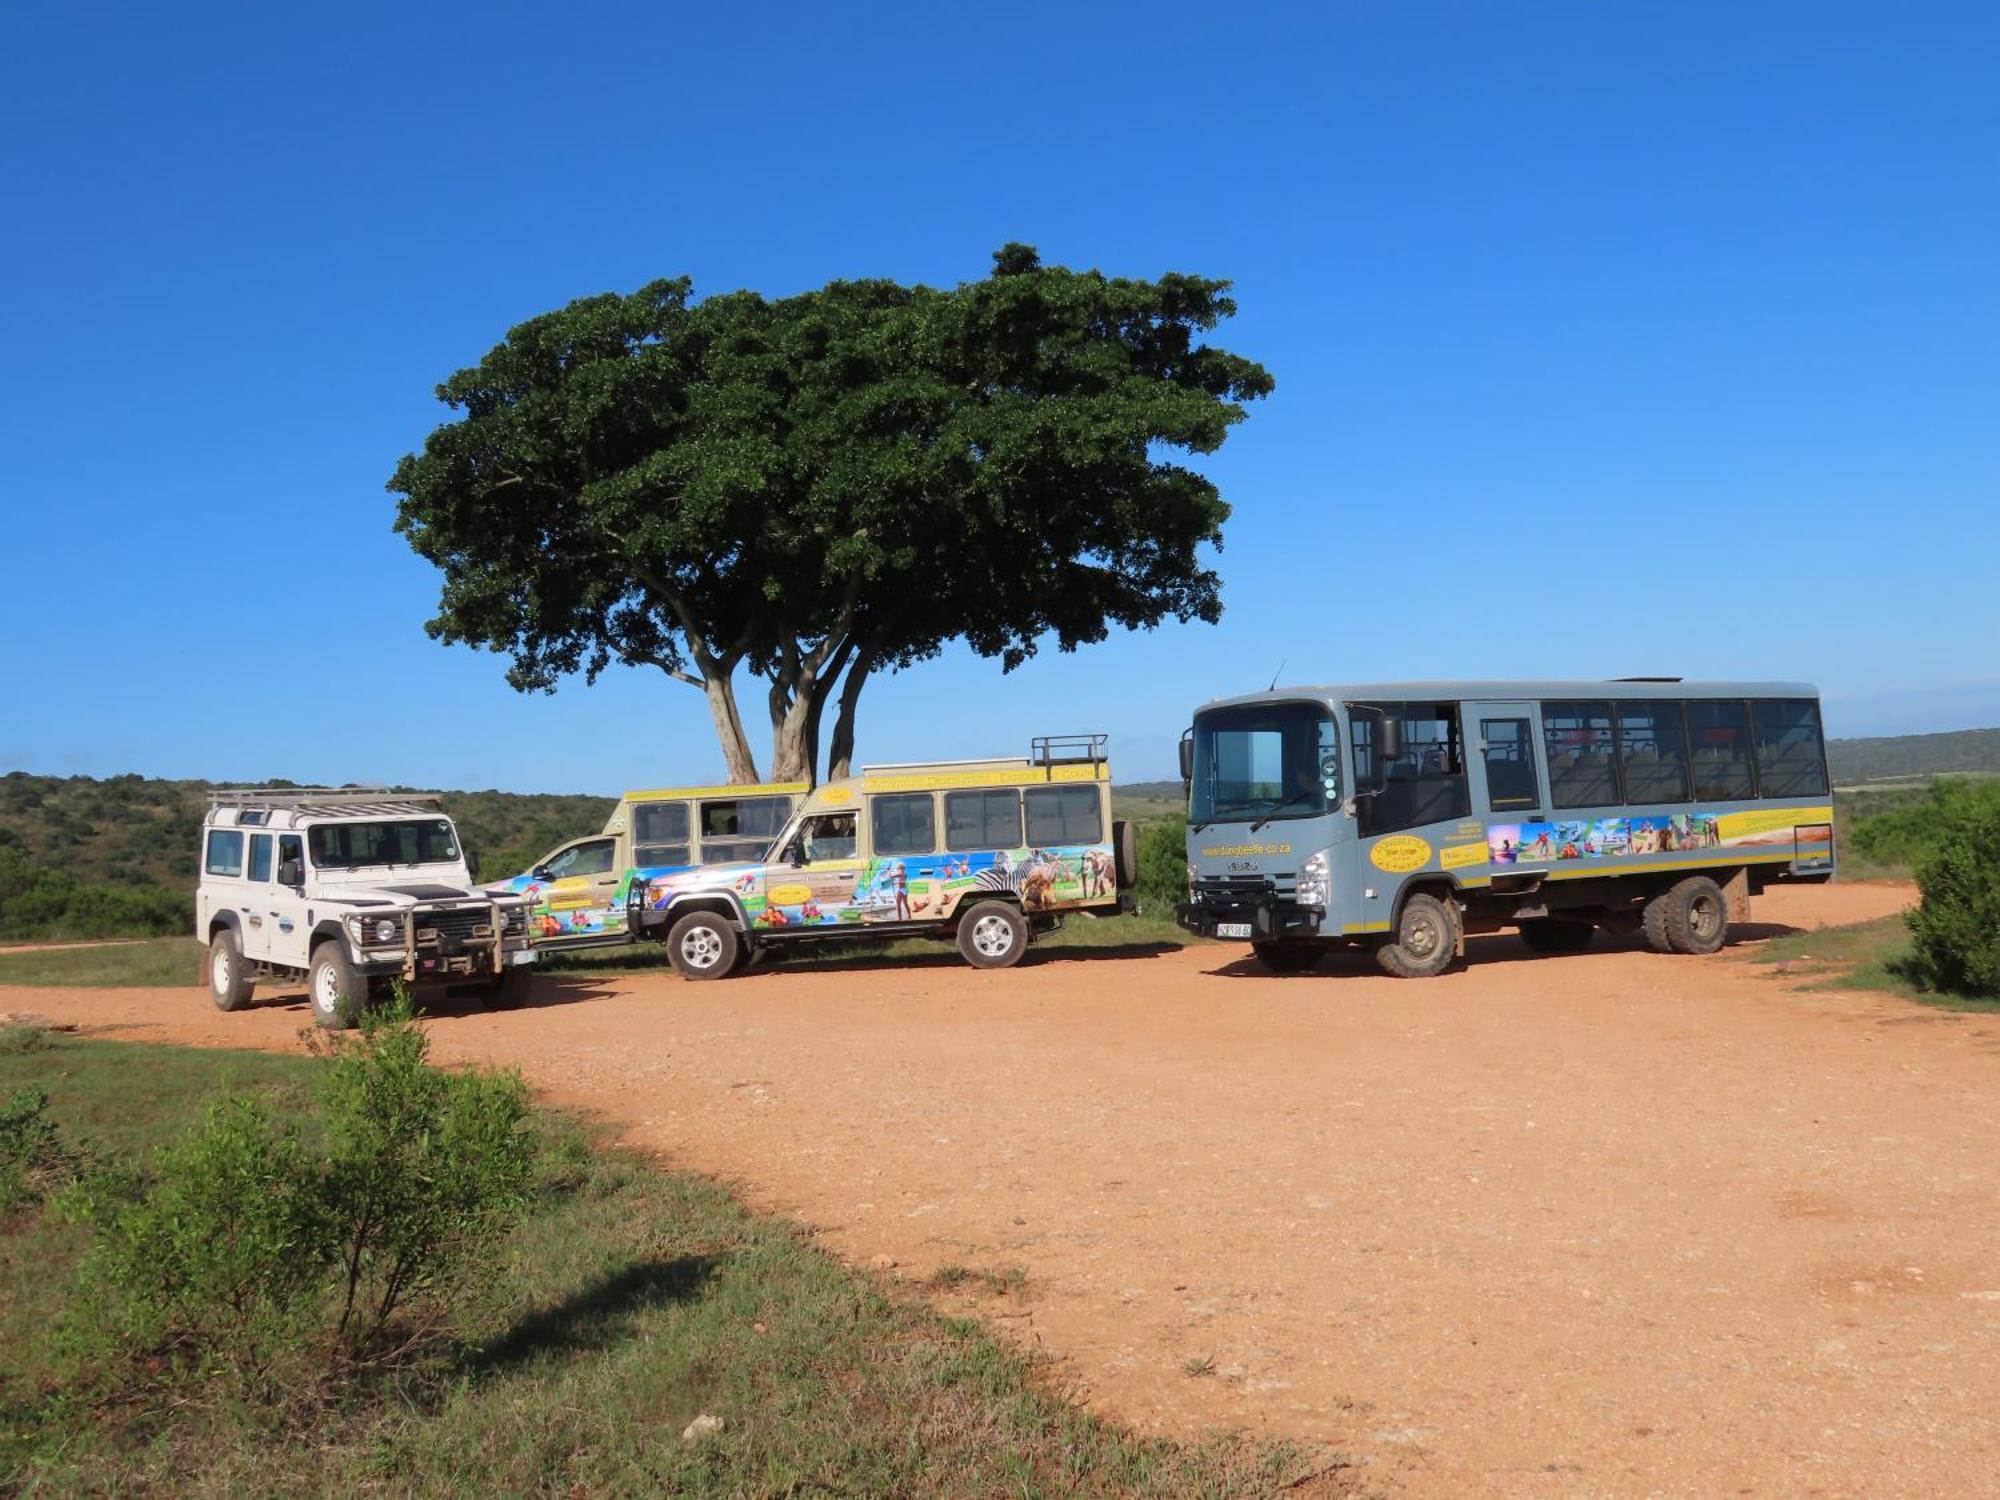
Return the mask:
[[[46,1034],[0,1046],[0,1098],[34,1084],[98,1160],[170,1140],[216,1088],[278,1108],[304,1058]],[[532,1208],[448,1356],[388,1382],[244,1410],[204,1390],[80,1408],[52,1330],[84,1230],[0,1224],[0,1492],[1328,1494],[1332,1454],[1136,1438],[1064,1402],[978,1324],[848,1270],[722,1188],[542,1116]],[[950,1278],[1018,1296],[1018,1272]],[[708,1436],[684,1438],[702,1414]]]

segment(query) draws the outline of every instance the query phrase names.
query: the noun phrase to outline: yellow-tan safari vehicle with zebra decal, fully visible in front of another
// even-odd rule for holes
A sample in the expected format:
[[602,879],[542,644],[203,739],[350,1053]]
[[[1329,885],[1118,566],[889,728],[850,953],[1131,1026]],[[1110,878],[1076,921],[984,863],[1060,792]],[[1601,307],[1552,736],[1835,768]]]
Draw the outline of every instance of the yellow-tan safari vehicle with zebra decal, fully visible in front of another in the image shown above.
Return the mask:
[[1138,852],[1110,816],[1104,744],[1046,736],[1022,760],[864,766],[806,794],[762,858],[636,870],[630,930],[696,980],[790,944],[892,936],[1006,968],[1068,914],[1130,910]]

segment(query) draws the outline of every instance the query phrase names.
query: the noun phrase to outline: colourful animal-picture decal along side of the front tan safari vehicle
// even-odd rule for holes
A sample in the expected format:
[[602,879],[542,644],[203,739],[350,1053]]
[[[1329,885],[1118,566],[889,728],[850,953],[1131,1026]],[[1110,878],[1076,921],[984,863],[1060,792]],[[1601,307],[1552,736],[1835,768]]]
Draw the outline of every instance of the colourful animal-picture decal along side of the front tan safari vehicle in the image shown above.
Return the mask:
[[1100,906],[1118,894],[1110,844],[642,870],[634,878],[646,880],[650,910],[664,910],[682,892],[728,890],[750,926],[766,930],[934,922],[988,892],[1012,892],[1028,912]]

